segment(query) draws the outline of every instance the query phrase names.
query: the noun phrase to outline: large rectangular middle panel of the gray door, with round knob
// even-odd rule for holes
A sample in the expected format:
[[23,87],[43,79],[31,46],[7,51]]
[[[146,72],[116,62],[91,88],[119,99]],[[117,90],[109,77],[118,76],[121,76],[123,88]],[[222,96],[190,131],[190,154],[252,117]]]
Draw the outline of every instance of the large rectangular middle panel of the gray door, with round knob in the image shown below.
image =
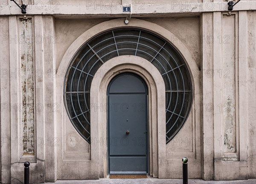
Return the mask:
[[146,155],[146,95],[110,95],[109,105],[110,155]]

